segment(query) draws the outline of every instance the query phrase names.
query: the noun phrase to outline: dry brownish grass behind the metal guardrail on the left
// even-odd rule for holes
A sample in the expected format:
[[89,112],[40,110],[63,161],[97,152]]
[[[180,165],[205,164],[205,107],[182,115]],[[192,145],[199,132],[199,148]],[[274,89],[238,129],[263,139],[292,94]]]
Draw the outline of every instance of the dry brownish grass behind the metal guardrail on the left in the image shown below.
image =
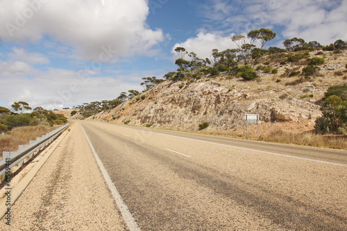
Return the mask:
[[49,126],[27,126],[13,128],[10,132],[0,135],[0,154],[3,151],[16,151],[18,145],[28,144],[29,140],[34,140],[37,137],[56,129],[56,127]]

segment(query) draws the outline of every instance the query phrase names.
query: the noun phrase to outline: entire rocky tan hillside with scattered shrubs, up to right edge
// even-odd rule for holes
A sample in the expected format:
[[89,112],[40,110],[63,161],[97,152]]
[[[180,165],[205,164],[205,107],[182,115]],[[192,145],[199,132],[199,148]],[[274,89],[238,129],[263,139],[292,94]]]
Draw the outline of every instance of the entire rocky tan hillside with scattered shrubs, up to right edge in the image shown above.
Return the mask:
[[[310,52],[310,57],[317,57],[317,51]],[[321,115],[319,103],[324,92],[331,85],[346,83],[347,76],[346,51],[324,51],[319,57],[325,63],[318,73],[306,78],[302,74],[289,77],[289,72],[302,71],[306,58],[284,64],[264,57],[260,64],[278,69],[277,74],[259,70],[260,78],[252,81],[228,73],[198,80],[167,80],[142,96],[88,119],[174,130],[198,130],[199,123],[208,121],[206,130],[243,133],[245,114],[259,114],[265,132],[276,128],[312,130],[314,120]]]

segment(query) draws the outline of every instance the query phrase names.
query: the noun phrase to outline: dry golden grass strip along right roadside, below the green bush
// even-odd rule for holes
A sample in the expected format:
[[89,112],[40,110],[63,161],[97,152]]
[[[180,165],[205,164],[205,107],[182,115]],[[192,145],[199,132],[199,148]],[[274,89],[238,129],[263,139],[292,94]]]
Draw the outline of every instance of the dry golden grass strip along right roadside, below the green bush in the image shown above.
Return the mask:
[[293,133],[273,130],[268,135],[260,136],[260,140],[282,144],[298,144],[322,148],[347,149],[347,136],[316,135],[314,132]]

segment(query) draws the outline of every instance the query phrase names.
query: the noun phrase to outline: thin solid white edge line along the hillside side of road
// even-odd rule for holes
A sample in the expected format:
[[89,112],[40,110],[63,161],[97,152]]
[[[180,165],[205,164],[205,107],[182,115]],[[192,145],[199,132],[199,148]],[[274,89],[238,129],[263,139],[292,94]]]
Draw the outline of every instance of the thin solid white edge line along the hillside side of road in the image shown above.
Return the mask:
[[[135,128],[128,128],[128,129],[137,130]],[[151,131],[147,131],[147,132],[151,132]],[[282,157],[289,157],[289,158],[294,158],[294,159],[298,159],[298,160],[307,160],[307,161],[318,162],[318,163],[322,163],[322,164],[331,164],[331,165],[336,165],[336,166],[347,167],[347,164],[339,164],[339,163],[328,162],[328,161],[323,161],[323,160],[314,160],[314,159],[305,158],[305,157],[298,157],[298,156],[295,156],[295,155],[285,155],[285,154],[280,154],[280,153],[271,153],[271,152],[260,151],[260,150],[251,149],[251,148],[241,148],[241,147],[238,147],[238,146],[232,146],[232,145],[228,145],[228,144],[218,144],[218,143],[207,142],[207,141],[203,141],[203,140],[199,140],[199,139],[178,137],[176,135],[167,135],[167,134],[163,134],[163,133],[159,133],[159,132],[151,132],[151,133],[155,133],[155,134],[159,134],[159,135],[166,135],[168,137],[176,137],[176,138],[180,138],[180,139],[188,139],[188,140],[192,140],[192,141],[196,141],[196,142],[203,142],[203,143],[207,143],[207,144],[217,144],[217,145],[226,146],[226,147],[230,147],[230,148],[239,148],[239,149],[243,149],[243,150],[247,150],[247,151],[255,151],[255,152],[258,152],[258,153],[266,153],[266,154],[270,154],[270,155],[278,155],[278,156],[282,156]]]

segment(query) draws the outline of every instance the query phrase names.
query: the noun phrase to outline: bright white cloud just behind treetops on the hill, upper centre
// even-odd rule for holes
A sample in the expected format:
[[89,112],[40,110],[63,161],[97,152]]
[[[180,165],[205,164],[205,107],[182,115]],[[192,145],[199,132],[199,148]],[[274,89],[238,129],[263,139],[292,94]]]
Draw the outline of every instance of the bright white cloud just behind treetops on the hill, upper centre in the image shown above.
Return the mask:
[[200,32],[196,37],[189,38],[185,42],[175,44],[172,49],[172,53],[175,53],[174,49],[178,46],[184,47],[188,52],[194,52],[198,58],[210,58],[212,49],[219,49],[224,51],[226,49],[235,48],[235,44],[230,39],[232,35],[223,37],[214,33]]

